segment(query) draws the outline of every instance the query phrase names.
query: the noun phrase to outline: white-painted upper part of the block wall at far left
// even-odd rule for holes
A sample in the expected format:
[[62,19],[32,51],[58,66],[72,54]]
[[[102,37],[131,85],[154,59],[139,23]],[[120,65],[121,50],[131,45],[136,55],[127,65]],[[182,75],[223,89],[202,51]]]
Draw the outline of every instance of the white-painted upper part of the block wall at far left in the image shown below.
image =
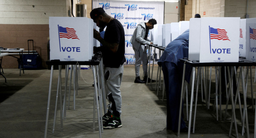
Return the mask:
[[0,0],[0,24],[49,24],[49,17],[68,17],[68,10],[71,0]]

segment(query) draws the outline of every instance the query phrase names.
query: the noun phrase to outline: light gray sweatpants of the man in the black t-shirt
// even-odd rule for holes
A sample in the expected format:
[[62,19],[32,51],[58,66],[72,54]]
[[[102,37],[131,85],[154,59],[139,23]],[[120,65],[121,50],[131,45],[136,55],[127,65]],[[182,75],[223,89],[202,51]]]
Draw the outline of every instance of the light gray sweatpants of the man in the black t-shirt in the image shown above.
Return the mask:
[[119,68],[104,68],[104,78],[106,86],[106,94],[109,104],[108,110],[115,116],[121,115],[122,97],[120,85],[123,77],[124,66]]

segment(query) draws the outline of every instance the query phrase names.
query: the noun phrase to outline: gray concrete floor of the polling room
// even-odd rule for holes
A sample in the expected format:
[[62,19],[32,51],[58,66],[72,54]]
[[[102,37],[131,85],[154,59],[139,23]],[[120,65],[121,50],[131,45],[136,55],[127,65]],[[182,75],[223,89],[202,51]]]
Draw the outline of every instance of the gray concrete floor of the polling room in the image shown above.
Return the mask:
[[[64,69],[62,70],[64,74]],[[253,78],[254,78],[253,69]],[[7,83],[0,76],[0,138],[42,138],[45,132],[46,111],[49,92],[50,70],[25,70],[25,74],[19,76],[18,69],[4,69]],[[142,72],[142,67],[141,67]],[[213,70],[214,72],[214,70]],[[54,70],[51,105],[48,122],[48,138],[98,138],[98,123],[93,131],[93,87],[92,71],[82,70],[80,76],[78,95],[75,98],[75,110],[73,110],[73,97],[70,98],[70,107],[66,110],[66,118],[61,131],[60,109],[57,110],[55,133],[53,134],[54,109],[58,82],[58,70]],[[156,78],[157,67],[154,67],[153,78]],[[64,75],[63,75],[64,76]],[[214,76],[214,74],[213,74]],[[82,79],[83,77],[83,79]],[[142,76],[141,76],[142,77]],[[104,129],[102,138],[175,138],[177,133],[166,129],[166,97],[162,101],[162,91],[155,90],[152,85],[134,83],[134,66],[125,66],[121,84],[123,126],[115,129]],[[250,81],[250,80],[249,80]],[[212,87],[214,88],[214,77]],[[64,84],[64,81],[63,81]],[[253,88],[256,84],[253,83]],[[62,87],[64,90],[64,87]],[[72,92],[73,88],[71,88]],[[255,89],[254,89],[255,90]],[[240,93],[242,89],[240,87]],[[213,93],[213,92],[212,92]],[[71,94],[72,95],[72,94]],[[223,119],[226,100],[222,100],[222,119],[216,121],[216,113],[213,110],[214,99],[210,109],[206,109],[205,103],[198,98],[195,133],[191,138],[229,138],[230,121]],[[242,95],[241,95],[242,99]],[[254,112],[251,108],[251,90],[248,84],[247,92],[248,118],[250,137],[254,132]],[[59,107],[59,106],[58,106]],[[241,136],[241,117],[237,105],[238,136]],[[193,106],[194,109],[194,106]],[[186,103],[184,104],[186,115]],[[228,114],[231,113],[229,104]],[[187,125],[188,121],[185,120]],[[246,133],[245,133],[246,135]],[[187,133],[181,133],[181,138],[186,138]],[[231,137],[235,137],[233,125]]]

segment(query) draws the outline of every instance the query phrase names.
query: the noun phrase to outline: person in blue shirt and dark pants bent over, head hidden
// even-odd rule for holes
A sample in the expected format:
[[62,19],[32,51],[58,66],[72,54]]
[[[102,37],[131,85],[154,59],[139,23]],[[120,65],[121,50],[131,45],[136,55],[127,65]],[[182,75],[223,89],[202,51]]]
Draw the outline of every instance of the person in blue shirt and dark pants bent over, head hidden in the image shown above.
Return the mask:
[[[184,66],[184,63],[179,59],[188,57],[188,55],[189,30],[171,41],[158,61],[158,65],[162,66],[166,87],[167,129],[173,130],[174,132],[178,131],[179,125],[179,110]],[[182,104],[181,132],[188,132],[188,127],[186,126],[183,117]]]

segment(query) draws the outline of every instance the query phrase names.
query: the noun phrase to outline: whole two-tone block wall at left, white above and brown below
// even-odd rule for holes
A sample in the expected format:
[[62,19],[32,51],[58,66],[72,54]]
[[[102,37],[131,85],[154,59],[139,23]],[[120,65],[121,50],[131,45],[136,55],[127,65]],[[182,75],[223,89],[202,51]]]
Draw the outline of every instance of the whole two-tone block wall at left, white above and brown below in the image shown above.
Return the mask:
[[[74,16],[76,3],[74,0]],[[49,17],[68,17],[68,13],[70,0],[0,0],[0,46],[28,50],[28,39],[33,39],[34,49],[40,54],[43,67],[47,67]],[[2,66],[18,68],[17,59],[4,56]]]

